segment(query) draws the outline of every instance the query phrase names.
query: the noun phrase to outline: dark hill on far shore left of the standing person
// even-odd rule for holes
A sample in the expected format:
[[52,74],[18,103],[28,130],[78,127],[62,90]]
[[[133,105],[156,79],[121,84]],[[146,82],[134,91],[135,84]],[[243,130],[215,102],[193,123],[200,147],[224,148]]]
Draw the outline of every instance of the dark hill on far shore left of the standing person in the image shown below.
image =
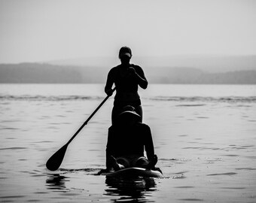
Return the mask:
[[0,83],[103,83],[108,70],[46,63],[0,64]]

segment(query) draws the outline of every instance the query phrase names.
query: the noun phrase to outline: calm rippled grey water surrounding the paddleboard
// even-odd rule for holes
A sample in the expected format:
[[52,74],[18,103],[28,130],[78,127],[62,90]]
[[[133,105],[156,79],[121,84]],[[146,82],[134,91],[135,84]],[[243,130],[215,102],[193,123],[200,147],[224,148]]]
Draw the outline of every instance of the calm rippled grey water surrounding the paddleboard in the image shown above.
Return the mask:
[[1,202],[255,202],[256,86],[140,89],[164,178],[106,179],[113,98],[72,141],[59,171],[47,159],[105,98],[103,84],[0,84]]

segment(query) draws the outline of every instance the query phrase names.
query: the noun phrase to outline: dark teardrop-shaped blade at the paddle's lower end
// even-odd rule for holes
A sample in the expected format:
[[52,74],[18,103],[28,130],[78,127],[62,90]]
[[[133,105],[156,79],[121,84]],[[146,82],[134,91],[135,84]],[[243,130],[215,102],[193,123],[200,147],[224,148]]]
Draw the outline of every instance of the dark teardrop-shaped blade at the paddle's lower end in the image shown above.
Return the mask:
[[48,161],[46,162],[46,167],[50,171],[56,171],[59,168],[65,156],[67,147],[68,144],[65,144],[63,147],[57,150],[56,153],[53,154],[53,156],[50,156],[50,159],[48,159]]

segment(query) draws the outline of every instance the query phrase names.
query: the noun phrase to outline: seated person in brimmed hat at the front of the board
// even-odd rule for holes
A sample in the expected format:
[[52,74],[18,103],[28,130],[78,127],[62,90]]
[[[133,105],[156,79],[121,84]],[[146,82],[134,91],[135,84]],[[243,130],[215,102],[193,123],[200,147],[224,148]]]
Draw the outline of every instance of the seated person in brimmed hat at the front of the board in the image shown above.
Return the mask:
[[[148,159],[144,156],[144,150]],[[130,105],[124,107],[117,122],[108,129],[107,171],[130,167],[156,169],[156,164],[157,155],[154,154],[150,127],[141,123],[135,108]]]

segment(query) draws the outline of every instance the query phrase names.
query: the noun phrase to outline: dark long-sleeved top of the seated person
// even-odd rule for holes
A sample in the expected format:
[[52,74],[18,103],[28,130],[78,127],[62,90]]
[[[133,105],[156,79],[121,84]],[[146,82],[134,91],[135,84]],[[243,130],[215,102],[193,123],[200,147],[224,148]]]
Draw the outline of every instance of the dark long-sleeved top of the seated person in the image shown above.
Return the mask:
[[108,144],[106,148],[107,168],[111,168],[109,156],[139,159],[144,156],[144,149],[148,159],[154,156],[154,144],[151,129],[144,123],[134,126],[111,126],[108,129]]

